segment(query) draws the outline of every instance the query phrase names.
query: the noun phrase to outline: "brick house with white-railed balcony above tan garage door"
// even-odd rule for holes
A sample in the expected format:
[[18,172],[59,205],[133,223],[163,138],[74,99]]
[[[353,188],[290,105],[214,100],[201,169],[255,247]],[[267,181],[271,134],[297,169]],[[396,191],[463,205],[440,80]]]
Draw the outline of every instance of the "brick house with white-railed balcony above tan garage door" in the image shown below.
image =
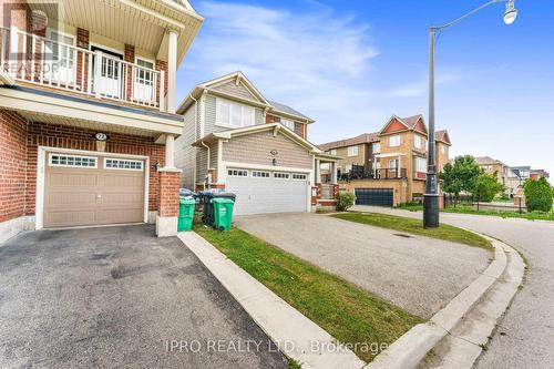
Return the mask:
[[176,233],[175,72],[186,0],[3,2],[0,235],[156,223]]

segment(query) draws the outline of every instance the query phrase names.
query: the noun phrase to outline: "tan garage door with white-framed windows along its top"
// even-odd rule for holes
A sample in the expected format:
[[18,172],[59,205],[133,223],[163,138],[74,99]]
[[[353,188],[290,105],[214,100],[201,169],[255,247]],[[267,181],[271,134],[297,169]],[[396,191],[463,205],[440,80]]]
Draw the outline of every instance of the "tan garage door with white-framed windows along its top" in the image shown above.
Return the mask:
[[43,226],[144,222],[145,163],[47,153]]

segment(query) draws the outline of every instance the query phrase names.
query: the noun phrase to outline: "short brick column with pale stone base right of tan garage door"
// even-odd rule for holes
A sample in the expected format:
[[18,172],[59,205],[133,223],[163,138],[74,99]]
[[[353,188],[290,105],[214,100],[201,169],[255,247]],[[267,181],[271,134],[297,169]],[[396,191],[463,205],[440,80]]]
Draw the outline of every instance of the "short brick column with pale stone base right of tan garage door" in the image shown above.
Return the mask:
[[156,235],[158,237],[177,234],[179,170],[161,170],[157,195]]

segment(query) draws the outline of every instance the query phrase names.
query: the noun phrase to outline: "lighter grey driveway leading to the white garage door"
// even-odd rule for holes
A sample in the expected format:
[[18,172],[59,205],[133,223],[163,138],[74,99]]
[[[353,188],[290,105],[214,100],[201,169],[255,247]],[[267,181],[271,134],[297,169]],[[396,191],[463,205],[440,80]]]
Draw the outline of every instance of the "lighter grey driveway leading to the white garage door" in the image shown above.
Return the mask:
[[318,214],[239,216],[237,226],[424,318],[471,284],[492,256]]

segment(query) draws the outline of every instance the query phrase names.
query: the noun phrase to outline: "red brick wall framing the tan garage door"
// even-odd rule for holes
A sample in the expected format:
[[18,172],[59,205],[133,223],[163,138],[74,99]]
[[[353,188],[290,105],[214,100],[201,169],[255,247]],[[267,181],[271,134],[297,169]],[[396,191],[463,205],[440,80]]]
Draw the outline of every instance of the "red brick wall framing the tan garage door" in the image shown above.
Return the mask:
[[[37,122],[29,123],[25,215],[34,215],[38,147],[50,146],[96,151],[94,134],[95,131],[78,127]],[[160,162],[162,166],[165,164],[165,146],[155,144],[152,137],[109,133],[105,152],[150,156],[148,211],[157,211],[160,178],[155,164],[156,162]]]

